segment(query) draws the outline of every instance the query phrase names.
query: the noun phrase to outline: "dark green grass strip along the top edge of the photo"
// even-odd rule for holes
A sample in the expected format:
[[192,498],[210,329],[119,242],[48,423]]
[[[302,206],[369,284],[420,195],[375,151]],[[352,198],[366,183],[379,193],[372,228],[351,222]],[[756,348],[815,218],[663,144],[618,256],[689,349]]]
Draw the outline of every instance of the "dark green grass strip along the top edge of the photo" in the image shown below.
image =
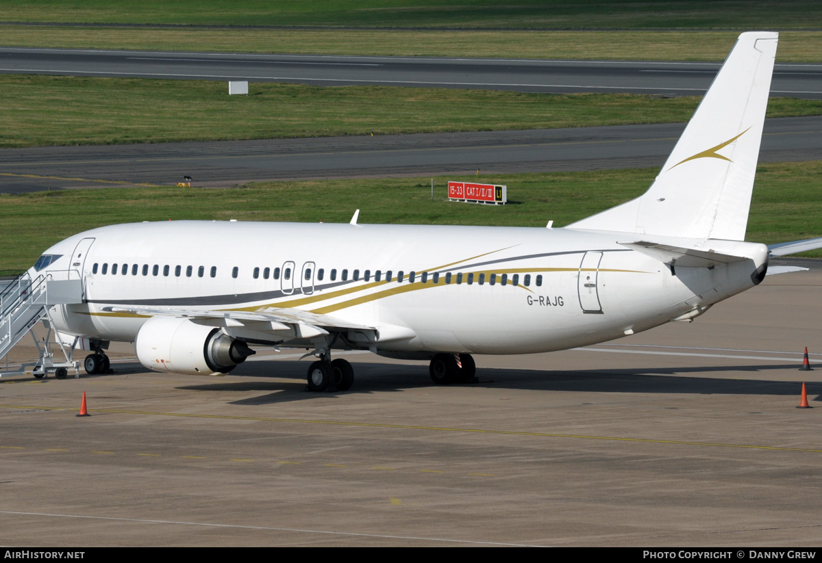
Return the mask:
[[3,0],[3,21],[547,29],[809,29],[813,0]]

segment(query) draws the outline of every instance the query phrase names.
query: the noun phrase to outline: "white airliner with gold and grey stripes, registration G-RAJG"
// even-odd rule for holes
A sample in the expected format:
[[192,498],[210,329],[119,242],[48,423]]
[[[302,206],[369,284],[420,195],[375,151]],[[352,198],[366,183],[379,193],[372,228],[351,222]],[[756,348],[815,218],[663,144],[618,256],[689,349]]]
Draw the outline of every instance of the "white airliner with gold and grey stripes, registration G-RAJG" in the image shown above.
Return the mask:
[[63,240],[27,275],[80,282],[46,310],[59,334],[90,341],[90,373],[110,341],[190,374],[229,373],[250,346],[295,347],[318,358],[313,391],[352,385],[332,350],[430,359],[435,382],[465,382],[471,354],[690,321],[759,284],[769,255],[822,247],[744,241],[777,41],[741,34],[649,190],[565,228],[144,222]]

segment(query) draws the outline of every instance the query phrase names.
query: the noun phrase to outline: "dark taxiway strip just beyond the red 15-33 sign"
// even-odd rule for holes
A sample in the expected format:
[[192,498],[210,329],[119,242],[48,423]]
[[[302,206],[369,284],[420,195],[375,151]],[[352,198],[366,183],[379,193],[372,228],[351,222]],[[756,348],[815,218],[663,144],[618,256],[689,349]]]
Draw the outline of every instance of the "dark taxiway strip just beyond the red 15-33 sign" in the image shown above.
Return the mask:
[[[685,124],[0,150],[0,193],[113,185],[662,167]],[[765,121],[760,162],[822,158],[822,117]]]

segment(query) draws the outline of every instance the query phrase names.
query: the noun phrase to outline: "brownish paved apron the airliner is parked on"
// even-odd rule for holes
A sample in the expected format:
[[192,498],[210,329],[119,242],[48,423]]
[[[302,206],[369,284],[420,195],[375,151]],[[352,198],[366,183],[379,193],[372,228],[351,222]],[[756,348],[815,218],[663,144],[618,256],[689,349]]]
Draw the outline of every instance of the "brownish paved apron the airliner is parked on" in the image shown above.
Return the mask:
[[[769,276],[694,323],[544,355],[475,385],[299,351],[224,378],[0,379],[6,545],[768,546],[822,543],[822,272]],[[25,350],[17,350],[25,355]],[[797,409],[801,382],[810,410]],[[90,418],[76,418],[86,392]]]

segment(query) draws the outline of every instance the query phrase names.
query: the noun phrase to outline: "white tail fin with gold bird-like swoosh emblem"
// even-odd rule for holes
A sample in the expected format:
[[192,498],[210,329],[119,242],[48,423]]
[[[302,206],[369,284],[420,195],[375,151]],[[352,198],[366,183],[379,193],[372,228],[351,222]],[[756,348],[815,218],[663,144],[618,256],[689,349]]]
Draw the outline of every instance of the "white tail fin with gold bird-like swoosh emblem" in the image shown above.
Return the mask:
[[567,227],[744,240],[777,43],[741,34],[649,190]]

